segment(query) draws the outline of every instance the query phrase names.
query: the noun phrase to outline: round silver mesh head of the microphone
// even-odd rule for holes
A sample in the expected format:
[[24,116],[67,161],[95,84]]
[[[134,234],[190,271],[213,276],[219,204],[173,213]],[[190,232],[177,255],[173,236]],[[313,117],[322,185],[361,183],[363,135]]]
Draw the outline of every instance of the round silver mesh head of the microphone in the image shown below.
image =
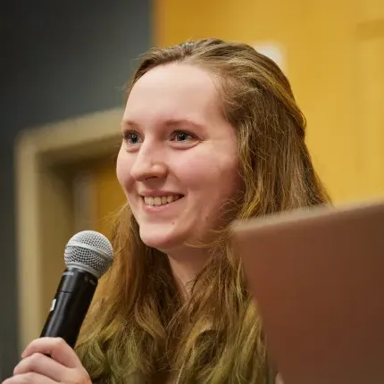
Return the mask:
[[83,230],[65,246],[64,261],[67,267],[88,271],[100,279],[113,262],[113,248],[101,233]]

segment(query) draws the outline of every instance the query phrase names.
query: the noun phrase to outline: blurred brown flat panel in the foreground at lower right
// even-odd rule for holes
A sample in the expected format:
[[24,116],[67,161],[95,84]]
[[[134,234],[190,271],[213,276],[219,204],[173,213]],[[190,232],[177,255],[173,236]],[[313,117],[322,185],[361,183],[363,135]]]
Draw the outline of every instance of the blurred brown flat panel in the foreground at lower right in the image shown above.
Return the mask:
[[286,384],[384,382],[384,201],[240,222],[244,263]]

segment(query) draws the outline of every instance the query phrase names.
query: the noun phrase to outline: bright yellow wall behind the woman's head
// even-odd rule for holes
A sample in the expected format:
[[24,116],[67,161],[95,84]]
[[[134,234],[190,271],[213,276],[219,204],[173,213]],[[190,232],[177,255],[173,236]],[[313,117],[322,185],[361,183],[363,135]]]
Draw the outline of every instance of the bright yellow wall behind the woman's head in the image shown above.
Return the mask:
[[284,46],[335,201],[384,195],[383,26],[382,0],[154,0],[156,46],[207,37]]

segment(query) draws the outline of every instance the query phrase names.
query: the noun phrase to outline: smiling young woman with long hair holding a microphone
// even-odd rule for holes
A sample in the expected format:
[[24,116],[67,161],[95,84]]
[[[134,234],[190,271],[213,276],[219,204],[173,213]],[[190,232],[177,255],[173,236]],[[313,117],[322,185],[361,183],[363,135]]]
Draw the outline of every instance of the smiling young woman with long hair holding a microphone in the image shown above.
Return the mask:
[[155,48],[121,127],[128,204],[77,355],[40,338],[5,383],[273,383],[229,224],[328,201],[288,79],[244,44]]

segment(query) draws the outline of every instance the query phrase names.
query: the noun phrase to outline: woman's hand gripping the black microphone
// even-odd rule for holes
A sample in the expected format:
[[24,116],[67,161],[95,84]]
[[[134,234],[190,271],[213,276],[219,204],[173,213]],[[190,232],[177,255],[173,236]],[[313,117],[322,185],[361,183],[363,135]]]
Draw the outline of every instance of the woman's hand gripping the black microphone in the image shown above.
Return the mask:
[[91,384],[79,357],[63,338],[38,338],[21,357],[13,377],[3,384]]

